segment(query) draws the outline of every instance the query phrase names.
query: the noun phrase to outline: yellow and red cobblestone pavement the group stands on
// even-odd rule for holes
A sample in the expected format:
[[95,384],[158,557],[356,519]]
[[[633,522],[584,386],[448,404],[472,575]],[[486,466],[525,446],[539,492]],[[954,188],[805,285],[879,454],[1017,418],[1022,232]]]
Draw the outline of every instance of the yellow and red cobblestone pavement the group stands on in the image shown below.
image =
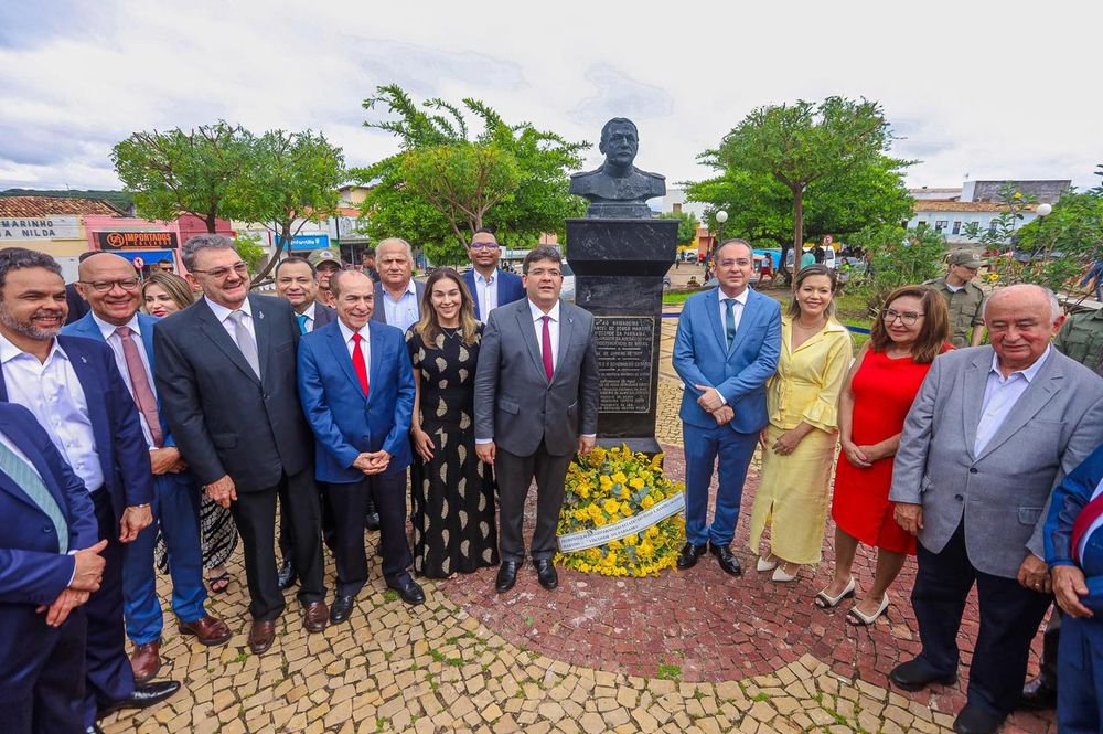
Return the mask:
[[[664,323],[664,371],[674,319]],[[667,333],[668,332],[668,333]],[[658,438],[671,475],[684,471],[677,405],[663,380]],[[757,487],[748,481],[743,518]],[[845,607],[812,605],[832,557],[797,582],[772,584],[750,566],[739,579],[709,557],[687,573],[608,579],[560,570],[560,588],[542,589],[526,568],[507,594],[494,570],[425,582],[427,602],[410,609],[384,592],[377,564],[351,620],[307,635],[298,603],[264,656],[248,651],[240,554],[235,582],[210,609],[236,630],[207,649],[178,635],[167,616],[160,677],[183,682],[169,702],[104,723],[121,732],[947,732],[964,702],[963,682],[933,692],[889,690],[887,673],[919,647],[908,603],[909,563],[887,617],[855,629]],[[378,541],[367,534],[370,547]],[[733,549],[753,561],[741,523]],[[871,556],[859,556],[859,589]],[[329,566],[332,578],[332,564]],[[168,584],[159,579],[160,591]],[[165,602],[165,605],[168,603]],[[968,662],[975,600],[962,629]],[[1054,732],[1052,716],[1017,714],[1004,732]]]

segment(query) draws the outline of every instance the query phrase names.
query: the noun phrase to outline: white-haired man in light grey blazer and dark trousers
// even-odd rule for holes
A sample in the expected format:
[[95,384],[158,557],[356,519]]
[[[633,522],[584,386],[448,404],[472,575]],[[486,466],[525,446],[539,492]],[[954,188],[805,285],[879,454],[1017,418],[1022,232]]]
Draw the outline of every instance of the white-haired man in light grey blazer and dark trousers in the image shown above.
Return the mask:
[[908,691],[957,677],[957,629],[974,583],[981,631],[963,734],[995,732],[1018,703],[1030,640],[1050,603],[1042,543],[1053,487],[1103,434],[1103,381],[1059,353],[1053,295],[1010,286],[985,306],[992,347],[931,366],[904,423],[889,499],[918,535],[912,606],[922,652],[889,676]]

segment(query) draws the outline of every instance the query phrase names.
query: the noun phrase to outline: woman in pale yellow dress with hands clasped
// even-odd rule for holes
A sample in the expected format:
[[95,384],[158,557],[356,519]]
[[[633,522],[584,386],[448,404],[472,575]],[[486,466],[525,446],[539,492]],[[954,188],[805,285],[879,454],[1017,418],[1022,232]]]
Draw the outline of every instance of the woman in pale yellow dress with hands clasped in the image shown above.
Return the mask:
[[[770,425],[762,429],[762,474],[751,511],[750,547],[758,570],[791,582],[818,563],[827,518],[831,469],[838,439],[838,393],[853,348],[833,318],[835,272],[810,265],[796,274],[793,301],[781,320],[781,358],[767,387]],[[770,526],[770,549],[761,553]]]

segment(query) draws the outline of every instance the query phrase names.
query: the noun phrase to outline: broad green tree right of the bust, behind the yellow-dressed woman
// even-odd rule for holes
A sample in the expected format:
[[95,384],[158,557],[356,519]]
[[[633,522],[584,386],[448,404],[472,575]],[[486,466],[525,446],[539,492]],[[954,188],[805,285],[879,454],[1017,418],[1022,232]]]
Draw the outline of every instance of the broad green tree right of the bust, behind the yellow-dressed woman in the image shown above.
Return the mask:
[[911,163],[887,156],[890,142],[875,102],[828,97],[759,107],[719,148],[698,156],[720,175],[690,183],[688,194],[711,205],[710,225],[725,209],[729,233],[780,244],[788,277],[784,254],[799,251],[806,234],[844,235],[908,219],[902,169]]

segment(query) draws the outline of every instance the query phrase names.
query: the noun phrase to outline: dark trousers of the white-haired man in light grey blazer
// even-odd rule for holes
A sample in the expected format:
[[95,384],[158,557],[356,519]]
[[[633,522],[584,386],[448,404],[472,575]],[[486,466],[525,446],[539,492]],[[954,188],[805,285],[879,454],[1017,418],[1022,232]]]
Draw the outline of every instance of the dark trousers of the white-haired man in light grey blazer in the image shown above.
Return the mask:
[[981,629],[968,676],[968,702],[1006,715],[1018,705],[1027,672],[1030,641],[1052,597],[1019,585],[1015,578],[977,571],[965,549],[964,520],[941,553],[922,543],[911,603],[919,623],[923,658],[938,673],[957,672],[957,629],[965,599],[976,584]]

